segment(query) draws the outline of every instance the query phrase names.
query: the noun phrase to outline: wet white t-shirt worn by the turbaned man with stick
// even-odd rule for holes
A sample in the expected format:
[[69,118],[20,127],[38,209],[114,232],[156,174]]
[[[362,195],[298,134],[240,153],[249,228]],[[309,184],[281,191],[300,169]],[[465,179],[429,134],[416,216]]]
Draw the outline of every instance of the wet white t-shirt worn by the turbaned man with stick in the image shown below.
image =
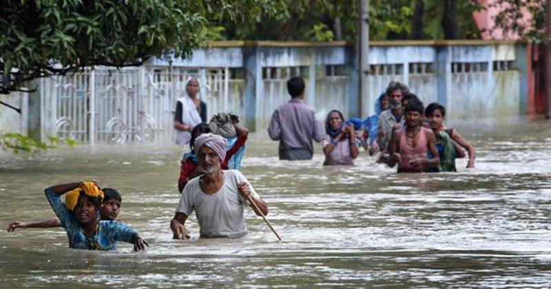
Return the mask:
[[238,184],[240,182],[247,182],[251,188],[251,195],[260,199],[240,171],[222,172],[225,177],[224,184],[218,192],[212,195],[201,190],[200,177],[187,182],[180,197],[180,204],[176,208],[176,213],[185,213],[187,216],[191,214],[191,211],[195,211],[201,237],[237,238],[247,234],[243,209],[248,202],[245,202],[239,193]]

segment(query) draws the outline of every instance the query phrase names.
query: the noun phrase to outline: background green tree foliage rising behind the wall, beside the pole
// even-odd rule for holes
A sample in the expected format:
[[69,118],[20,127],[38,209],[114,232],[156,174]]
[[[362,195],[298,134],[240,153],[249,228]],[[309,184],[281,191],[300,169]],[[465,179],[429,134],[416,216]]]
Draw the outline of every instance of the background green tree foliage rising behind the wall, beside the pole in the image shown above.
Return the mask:
[[[211,21],[222,26],[223,39],[246,40],[335,40],[335,19],[340,19],[342,39],[357,37],[357,5],[359,0],[273,0],[272,14],[234,21]],[[460,38],[480,36],[472,12],[483,9],[479,0],[457,1],[457,20]],[[512,0],[511,0],[512,1]],[[369,36],[373,41],[409,39],[416,0],[370,0]],[[423,0],[422,39],[444,39],[441,19],[444,13],[441,0]],[[331,32],[333,36],[331,37]],[[213,39],[220,39],[215,35]]]

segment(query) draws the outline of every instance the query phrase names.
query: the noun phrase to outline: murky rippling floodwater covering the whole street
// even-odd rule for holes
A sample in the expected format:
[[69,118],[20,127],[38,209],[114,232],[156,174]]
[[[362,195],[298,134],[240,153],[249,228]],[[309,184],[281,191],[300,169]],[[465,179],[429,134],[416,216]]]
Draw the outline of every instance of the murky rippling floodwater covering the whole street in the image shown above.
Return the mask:
[[[0,155],[0,287],[549,287],[551,124],[457,126],[476,169],[397,175],[362,153],[355,167],[280,162],[249,142],[242,172],[270,207],[278,242],[247,211],[243,239],[171,239],[181,151],[112,146]],[[473,129],[477,129],[474,131]],[[72,250],[61,228],[7,233],[13,220],[54,216],[43,189],[97,180],[123,194],[119,220],[151,246]]]

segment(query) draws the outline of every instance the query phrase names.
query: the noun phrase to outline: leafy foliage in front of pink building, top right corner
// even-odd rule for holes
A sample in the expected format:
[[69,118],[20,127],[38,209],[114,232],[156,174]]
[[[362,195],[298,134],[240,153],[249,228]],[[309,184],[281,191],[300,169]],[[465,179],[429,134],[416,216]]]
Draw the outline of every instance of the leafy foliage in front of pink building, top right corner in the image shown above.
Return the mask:
[[[494,7],[500,8],[495,16],[496,28],[504,34],[518,34],[521,39],[545,41],[545,10],[549,5],[546,0],[497,0]],[[531,15],[524,19],[523,11]]]

